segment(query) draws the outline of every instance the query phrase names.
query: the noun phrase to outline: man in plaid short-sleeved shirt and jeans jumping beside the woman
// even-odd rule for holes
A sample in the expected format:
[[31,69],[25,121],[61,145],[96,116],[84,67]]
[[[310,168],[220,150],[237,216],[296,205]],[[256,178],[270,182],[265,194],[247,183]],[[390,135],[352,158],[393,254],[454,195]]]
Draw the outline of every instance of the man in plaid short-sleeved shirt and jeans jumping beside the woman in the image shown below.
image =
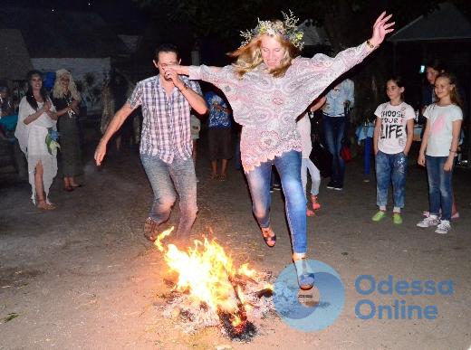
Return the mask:
[[157,48],[154,65],[159,74],[138,82],[128,101],[111,119],[95,151],[95,161],[100,166],[112,135],[130,113],[141,106],[144,119],[140,160],[154,192],[154,201],[144,224],[144,235],[149,241],[157,239],[159,224],[168,220],[177,194],[180,222],[175,236],[187,237],[197,216],[190,109],[205,114],[207,105],[196,81],[179,76],[175,71],[163,71],[166,65],[179,63],[177,47],[163,44]]

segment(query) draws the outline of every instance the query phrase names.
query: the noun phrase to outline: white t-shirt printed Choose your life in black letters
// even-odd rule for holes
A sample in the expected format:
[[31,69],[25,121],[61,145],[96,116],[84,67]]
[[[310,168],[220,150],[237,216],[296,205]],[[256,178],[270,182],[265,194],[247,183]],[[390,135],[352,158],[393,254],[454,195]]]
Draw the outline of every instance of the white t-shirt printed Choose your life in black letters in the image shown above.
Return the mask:
[[397,106],[386,102],[378,106],[374,115],[381,118],[378,149],[389,155],[395,155],[404,151],[408,140],[408,120],[416,117],[414,109],[406,102],[401,102]]

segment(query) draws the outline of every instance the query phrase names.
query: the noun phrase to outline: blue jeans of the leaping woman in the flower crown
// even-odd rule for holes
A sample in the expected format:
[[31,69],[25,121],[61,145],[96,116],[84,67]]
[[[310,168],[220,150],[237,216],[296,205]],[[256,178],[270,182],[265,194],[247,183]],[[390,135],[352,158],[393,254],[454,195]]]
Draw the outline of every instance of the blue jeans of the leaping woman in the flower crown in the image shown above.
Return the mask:
[[293,251],[305,253],[306,240],[306,198],[301,184],[301,153],[285,152],[268,160],[245,174],[252,195],[252,210],[260,227],[270,226],[270,178],[272,166],[276,167],[282,181],[286,217],[291,232]]

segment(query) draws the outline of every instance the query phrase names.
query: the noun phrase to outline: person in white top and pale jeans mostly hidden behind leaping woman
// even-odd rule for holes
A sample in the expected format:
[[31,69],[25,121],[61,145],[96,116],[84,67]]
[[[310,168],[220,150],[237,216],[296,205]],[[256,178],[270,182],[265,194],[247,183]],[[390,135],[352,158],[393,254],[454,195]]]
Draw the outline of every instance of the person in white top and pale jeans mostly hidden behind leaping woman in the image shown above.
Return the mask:
[[[318,99],[318,101],[309,109],[314,112],[320,109],[325,104],[325,96]],[[319,186],[321,185],[321,172],[314,166],[312,160],[309,158],[312,151],[312,140],[311,140],[311,119],[309,113],[304,113],[301,118],[298,119],[296,129],[301,137],[301,182],[303,183],[303,193],[306,195],[306,184],[307,184],[307,172],[311,175],[311,208],[306,209],[306,215],[312,216],[316,211],[321,209],[321,204],[317,202],[317,195],[319,194]],[[306,198],[307,202],[307,198]]]

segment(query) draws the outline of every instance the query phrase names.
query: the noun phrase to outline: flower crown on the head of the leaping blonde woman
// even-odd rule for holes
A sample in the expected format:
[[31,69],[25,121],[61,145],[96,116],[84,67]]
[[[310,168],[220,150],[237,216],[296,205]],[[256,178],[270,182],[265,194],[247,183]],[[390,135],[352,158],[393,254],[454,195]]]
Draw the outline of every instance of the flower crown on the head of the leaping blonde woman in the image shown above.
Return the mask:
[[245,32],[240,32],[242,37],[245,39],[245,41],[241,43],[240,47],[250,43],[252,39],[259,35],[268,34],[270,36],[274,36],[276,34],[280,34],[284,37],[285,41],[293,43],[299,51],[302,51],[304,46],[303,31],[300,31],[296,25],[299,18],[295,17],[291,10],[289,11],[289,14],[285,14],[282,11],[284,18],[283,22],[260,21],[260,18],[258,18],[258,24],[254,29],[247,29]]

